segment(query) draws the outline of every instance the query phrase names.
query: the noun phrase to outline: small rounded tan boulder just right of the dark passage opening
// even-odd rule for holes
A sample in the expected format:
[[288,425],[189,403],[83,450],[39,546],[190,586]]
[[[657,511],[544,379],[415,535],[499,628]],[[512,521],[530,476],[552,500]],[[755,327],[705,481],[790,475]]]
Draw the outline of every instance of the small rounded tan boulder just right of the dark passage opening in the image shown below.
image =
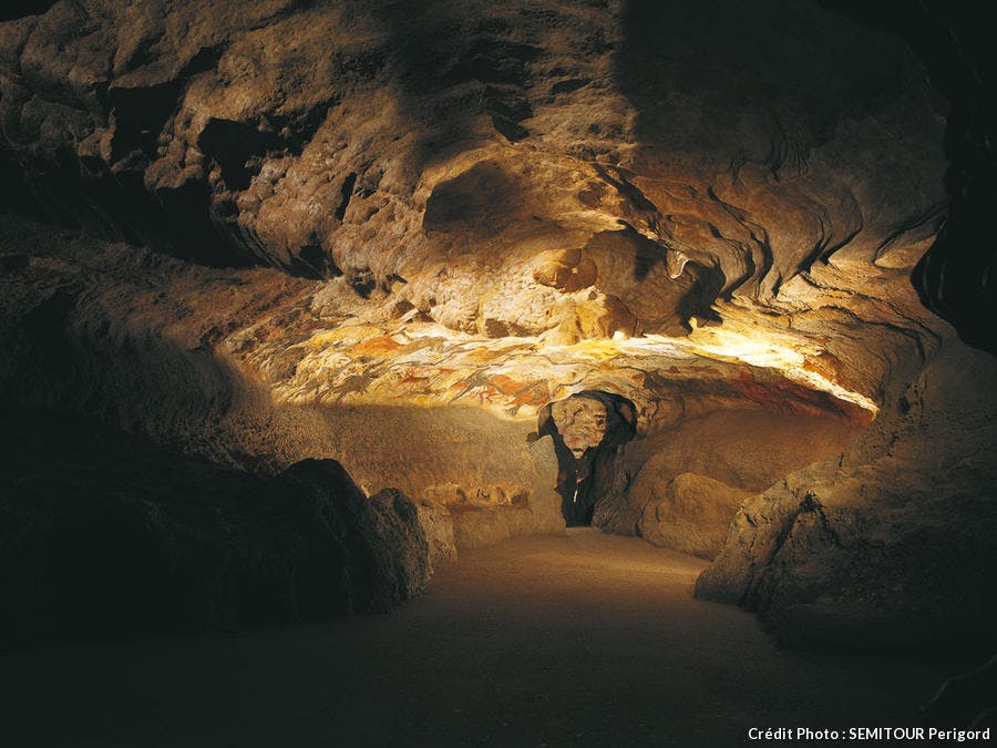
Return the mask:
[[702,559],[720,553],[731,520],[750,495],[696,473],[681,473],[665,485],[654,478],[638,478],[633,492],[641,491],[650,495],[640,519],[640,535],[655,545]]

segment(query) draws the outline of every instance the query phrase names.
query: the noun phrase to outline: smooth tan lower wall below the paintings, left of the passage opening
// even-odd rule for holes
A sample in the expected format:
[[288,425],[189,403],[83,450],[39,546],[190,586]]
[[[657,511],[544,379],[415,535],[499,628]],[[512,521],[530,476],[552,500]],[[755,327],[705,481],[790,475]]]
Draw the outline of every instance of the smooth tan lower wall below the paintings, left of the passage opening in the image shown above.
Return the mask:
[[[201,270],[40,226],[6,226],[6,402],[97,418],[261,474],[307,458],[337,460],[366,493],[390,486],[417,501],[433,559],[563,530],[554,451],[527,441],[531,420],[466,406],[280,402],[213,345],[234,320],[267,318],[280,305],[300,317],[296,305],[314,284]],[[45,247],[63,258],[85,253],[88,262],[65,263]]]

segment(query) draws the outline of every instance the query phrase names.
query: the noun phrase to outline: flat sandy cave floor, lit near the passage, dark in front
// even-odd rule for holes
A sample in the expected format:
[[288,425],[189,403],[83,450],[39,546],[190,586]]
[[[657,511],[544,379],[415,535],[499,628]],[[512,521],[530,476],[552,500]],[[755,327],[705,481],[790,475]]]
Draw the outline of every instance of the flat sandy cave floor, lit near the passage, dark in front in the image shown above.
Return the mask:
[[945,675],[929,653],[781,649],[692,598],[702,566],[573,530],[467,552],[390,615],[7,653],[0,746],[727,746],[918,724]]

